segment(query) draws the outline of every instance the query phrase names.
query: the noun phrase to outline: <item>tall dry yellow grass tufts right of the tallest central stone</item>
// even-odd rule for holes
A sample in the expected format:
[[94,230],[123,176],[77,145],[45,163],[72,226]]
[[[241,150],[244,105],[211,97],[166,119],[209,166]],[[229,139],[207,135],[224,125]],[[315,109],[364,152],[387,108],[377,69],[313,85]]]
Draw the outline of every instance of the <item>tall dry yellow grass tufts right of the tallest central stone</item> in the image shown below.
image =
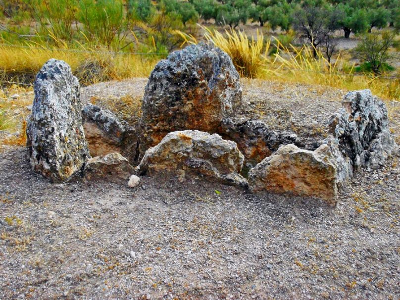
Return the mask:
[[[207,41],[227,52],[242,76],[272,81],[305,83],[330,86],[341,90],[370,89],[372,93],[384,100],[400,99],[400,79],[374,77],[370,74],[350,74],[343,72],[348,64],[338,55],[334,63],[328,62],[321,51],[315,58],[312,49],[303,46],[300,50],[290,45],[284,47],[277,39],[264,39],[257,32],[256,39],[234,30],[221,34],[216,30],[202,27]],[[196,44],[198,41],[190,35],[178,32],[186,43]],[[270,46],[277,48],[275,54],[269,56]]]

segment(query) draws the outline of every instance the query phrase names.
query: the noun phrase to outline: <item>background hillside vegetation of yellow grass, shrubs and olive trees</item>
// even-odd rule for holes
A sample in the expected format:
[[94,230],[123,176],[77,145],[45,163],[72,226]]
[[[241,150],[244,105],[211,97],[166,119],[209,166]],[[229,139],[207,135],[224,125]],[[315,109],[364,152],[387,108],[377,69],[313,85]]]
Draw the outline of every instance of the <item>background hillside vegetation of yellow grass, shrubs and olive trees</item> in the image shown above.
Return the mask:
[[[147,77],[169,52],[208,41],[231,56],[242,77],[343,90],[368,88],[384,100],[400,99],[399,0],[0,4],[2,89],[22,84],[30,91],[36,73],[50,58],[71,65],[82,86]],[[358,46],[344,50],[338,41],[347,39]],[[1,130],[22,127],[16,119],[24,116],[16,117],[9,103],[0,102]]]

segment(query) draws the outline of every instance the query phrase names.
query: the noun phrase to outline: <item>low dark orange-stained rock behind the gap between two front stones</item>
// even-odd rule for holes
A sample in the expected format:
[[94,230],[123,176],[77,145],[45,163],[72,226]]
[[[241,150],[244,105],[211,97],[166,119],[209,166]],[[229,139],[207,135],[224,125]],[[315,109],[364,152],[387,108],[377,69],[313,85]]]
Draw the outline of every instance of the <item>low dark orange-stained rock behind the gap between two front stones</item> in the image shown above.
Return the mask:
[[271,130],[260,120],[226,118],[221,123],[220,134],[238,144],[239,150],[245,156],[246,170],[270,156],[280,145],[295,144],[304,147],[296,134]]

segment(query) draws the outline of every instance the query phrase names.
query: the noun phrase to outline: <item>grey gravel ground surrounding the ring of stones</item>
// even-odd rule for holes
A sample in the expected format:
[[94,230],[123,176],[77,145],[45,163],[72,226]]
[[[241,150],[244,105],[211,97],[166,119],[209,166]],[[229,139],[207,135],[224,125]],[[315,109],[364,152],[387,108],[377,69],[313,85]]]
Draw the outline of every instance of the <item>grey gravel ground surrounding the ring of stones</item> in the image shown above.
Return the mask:
[[[315,137],[344,95],[242,83],[240,115]],[[145,85],[102,83],[82,95],[112,108]],[[388,102],[395,134],[399,106]],[[331,208],[197,177],[142,177],[135,189],[51,184],[25,149],[4,150],[0,299],[400,299],[399,162],[359,170]]]

